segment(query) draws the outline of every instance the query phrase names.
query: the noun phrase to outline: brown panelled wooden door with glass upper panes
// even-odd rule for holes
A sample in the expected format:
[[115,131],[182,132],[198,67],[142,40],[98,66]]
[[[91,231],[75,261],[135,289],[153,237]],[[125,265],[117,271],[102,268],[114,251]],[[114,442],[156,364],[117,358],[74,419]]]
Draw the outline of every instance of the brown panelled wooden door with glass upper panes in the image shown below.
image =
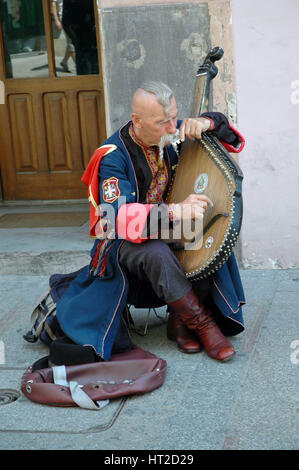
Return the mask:
[[[0,0],[1,3],[2,198],[84,198],[87,192],[81,182],[82,173],[94,149],[106,137],[96,1],[81,2],[89,4],[94,14],[96,58],[92,60],[96,64],[84,69],[80,57],[84,62],[88,52],[83,50],[82,55],[75,38],[69,40],[76,56],[76,64],[72,58],[67,63],[71,72],[61,65],[68,36],[64,29],[56,30],[54,26],[51,1]],[[22,18],[26,21],[22,22]],[[26,36],[27,30],[31,36]]]

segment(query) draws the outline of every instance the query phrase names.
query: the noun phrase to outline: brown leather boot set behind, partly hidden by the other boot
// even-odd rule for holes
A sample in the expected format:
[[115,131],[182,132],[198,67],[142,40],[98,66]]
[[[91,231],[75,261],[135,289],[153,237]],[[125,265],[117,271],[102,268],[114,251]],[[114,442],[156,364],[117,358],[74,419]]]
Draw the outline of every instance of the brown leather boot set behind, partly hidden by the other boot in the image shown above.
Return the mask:
[[176,312],[169,312],[167,338],[176,341],[180,351],[191,354],[200,352],[200,343],[195,335],[184,325]]

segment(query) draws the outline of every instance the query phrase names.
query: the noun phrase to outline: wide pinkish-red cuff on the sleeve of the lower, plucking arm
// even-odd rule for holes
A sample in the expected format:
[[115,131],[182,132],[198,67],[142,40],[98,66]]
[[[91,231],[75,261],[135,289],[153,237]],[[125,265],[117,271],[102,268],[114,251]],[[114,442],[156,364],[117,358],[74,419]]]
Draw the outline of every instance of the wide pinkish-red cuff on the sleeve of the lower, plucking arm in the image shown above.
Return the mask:
[[153,204],[137,202],[123,204],[116,216],[116,231],[120,238],[132,243],[142,243],[150,238],[142,236],[146,226],[147,216]]

